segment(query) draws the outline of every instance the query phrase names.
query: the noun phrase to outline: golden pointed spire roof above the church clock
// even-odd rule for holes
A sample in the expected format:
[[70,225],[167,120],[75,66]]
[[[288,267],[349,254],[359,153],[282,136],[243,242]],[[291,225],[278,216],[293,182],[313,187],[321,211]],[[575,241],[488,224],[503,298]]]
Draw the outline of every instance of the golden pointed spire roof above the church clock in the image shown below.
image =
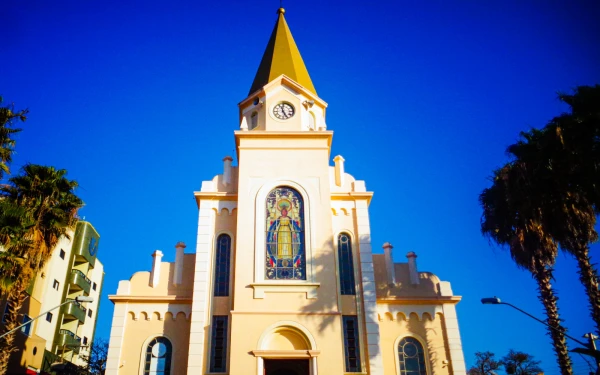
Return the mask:
[[271,33],[271,38],[260,61],[249,94],[285,74],[316,95],[317,91],[308,75],[308,70],[306,70],[304,61],[302,61],[302,56],[300,56],[300,51],[298,51],[298,47],[294,42],[290,28],[285,22],[283,16],[285,9],[279,8],[277,13],[279,14],[277,23]]

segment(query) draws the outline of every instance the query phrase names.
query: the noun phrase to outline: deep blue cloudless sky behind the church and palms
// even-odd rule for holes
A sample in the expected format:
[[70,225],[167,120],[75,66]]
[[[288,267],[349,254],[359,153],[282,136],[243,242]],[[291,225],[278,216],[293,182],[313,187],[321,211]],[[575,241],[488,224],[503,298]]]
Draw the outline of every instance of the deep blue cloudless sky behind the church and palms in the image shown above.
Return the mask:
[[[161,249],[193,251],[192,192],[234,154],[245,98],[278,1],[3,3],[0,95],[30,116],[13,169],[65,168],[100,232],[106,267],[97,336],[108,337],[119,280]],[[286,18],[329,103],[332,157],[375,192],[373,246],[452,282],[467,363],[509,348],[558,369],[535,283],[480,235],[478,194],[504,150],[566,110],[557,91],[600,83],[594,1],[291,1]],[[598,247],[592,256],[598,258]],[[593,330],[575,262],[554,283],[569,332]],[[574,347],[572,345],[571,347]],[[576,373],[587,365],[573,356]]]

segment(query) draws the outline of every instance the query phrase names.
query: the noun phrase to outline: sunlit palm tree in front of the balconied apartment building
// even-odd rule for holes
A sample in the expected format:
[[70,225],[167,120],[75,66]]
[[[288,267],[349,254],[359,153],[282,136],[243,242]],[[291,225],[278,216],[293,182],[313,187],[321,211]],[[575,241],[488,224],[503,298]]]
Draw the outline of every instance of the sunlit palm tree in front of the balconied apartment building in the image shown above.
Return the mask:
[[[58,240],[68,237],[77,222],[77,210],[83,202],[74,193],[77,182],[67,179],[66,174],[64,169],[28,164],[20,175],[9,179],[9,185],[0,187],[3,204],[22,210],[20,225],[17,222],[12,229],[0,232],[6,251],[24,259],[19,277],[7,293],[7,331],[19,325],[19,312],[33,277],[42,270]],[[14,334],[0,342],[0,375],[6,373],[10,354],[15,351],[13,342]]]

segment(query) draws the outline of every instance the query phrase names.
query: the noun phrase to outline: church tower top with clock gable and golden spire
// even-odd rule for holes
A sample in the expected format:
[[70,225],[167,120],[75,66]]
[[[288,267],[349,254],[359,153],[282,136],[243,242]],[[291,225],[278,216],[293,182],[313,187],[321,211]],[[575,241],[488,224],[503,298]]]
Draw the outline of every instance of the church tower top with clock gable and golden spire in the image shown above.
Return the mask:
[[317,91],[285,21],[278,17],[248,97],[239,103],[242,131],[323,131],[327,103]]

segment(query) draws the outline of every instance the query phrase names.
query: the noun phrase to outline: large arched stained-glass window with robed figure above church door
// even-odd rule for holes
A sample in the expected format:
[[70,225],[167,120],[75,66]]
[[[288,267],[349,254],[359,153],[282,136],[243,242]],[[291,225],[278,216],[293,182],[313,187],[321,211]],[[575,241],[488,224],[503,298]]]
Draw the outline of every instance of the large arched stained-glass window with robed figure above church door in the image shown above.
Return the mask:
[[306,280],[302,196],[290,187],[277,187],[267,195],[265,209],[265,278]]

